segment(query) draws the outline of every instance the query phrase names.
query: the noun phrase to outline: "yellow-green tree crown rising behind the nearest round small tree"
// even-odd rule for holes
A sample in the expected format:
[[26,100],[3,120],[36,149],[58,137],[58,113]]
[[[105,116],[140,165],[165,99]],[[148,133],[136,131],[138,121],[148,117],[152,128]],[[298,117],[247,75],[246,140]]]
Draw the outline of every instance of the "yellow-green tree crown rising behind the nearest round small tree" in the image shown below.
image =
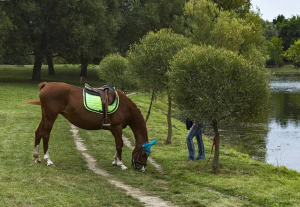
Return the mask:
[[219,10],[209,0],[191,0],[184,7],[189,30],[186,35],[196,44],[209,44],[242,54],[262,66],[266,60],[263,26],[259,12],[243,18],[235,12]]

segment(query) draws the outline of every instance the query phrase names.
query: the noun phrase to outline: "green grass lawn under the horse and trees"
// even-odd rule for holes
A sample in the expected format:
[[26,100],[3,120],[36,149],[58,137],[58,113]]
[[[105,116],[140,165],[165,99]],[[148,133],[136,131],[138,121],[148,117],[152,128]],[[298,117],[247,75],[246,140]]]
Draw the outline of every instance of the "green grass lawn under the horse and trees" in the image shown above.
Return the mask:
[[[105,177],[87,169],[75,149],[69,122],[60,115],[49,141],[50,157],[56,167],[46,167],[43,160],[34,164],[34,131],[41,113],[39,106],[25,104],[26,99],[38,97],[37,83],[30,81],[31,68],[0,65],[0,206],[143,206]],[[42,79],[80,84],[77,66],[58,65],[54,69],[56,75],[47,75],[43,67]],[[83,82],[92,86],[104,83],[94,69],[89,68],[87,74]],[[150,94],[138,93],[130,98],[145,116]],[[86,152],[113,179],[178,206],[300,206],[298,172],[251,159],[222,142],[218,173],[211,173],[212,162],[202,171],[190,172],[206,163],[212,141],[204,137],[205,160],[187,162],[187,130],[182,122],[172,119],[172,144],[163,143],[167,134],[166,111],[167,100],[160,96],[153,103],[147,129],[150,140],[158,139],[151,148],[151,158],[162,165],[164,172],[170,172],[168,175],[131,169],[131,149],[126,146],[122,161],[128,170],[112,166],[115,143],[109,131],[80,129],[79,135],[88,147]],[[134,143],[129,127],[123,134]],[[147,169],[155,171],[151,164]]]

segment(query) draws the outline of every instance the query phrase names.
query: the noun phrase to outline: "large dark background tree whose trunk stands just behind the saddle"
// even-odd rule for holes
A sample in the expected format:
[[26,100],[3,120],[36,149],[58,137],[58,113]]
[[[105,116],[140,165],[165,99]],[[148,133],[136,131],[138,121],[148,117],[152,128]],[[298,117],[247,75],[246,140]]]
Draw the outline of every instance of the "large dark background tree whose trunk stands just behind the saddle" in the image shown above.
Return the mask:
[[110,52],[115,52],[115,37],[121,24],[117,1],[85,1],[80,30],[74,33],[76,62],[81,63],[80,76],[87,75],[87,65],[98,62]]

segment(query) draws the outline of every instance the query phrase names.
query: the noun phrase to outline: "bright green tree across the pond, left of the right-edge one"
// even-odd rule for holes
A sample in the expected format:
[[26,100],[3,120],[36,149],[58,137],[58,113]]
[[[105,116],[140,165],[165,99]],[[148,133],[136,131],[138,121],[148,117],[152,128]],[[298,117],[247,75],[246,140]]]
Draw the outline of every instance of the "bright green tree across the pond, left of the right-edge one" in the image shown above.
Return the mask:
[[[266,49],[269,55],[269,59],[274,61],[277,66],[282,66],[282,58],[284,56],[283,46],[282,46],[282,38],[273,37],[271,40],[266,41]],[[283,62],[284,65],[284,62]]]

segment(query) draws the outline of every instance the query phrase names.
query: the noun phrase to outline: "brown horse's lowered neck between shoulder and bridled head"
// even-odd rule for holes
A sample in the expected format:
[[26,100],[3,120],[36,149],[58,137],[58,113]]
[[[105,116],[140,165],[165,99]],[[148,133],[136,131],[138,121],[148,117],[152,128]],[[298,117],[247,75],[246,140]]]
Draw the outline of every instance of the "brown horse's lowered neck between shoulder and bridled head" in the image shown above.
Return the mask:
[[140,110],[136,107],[131,108],[132,121],[129,124],[131,128],[134,138],[135,138],[135,146],[140,147],[143,143],[148,141],[147,128],[145,124],[145,120],[140,112]]

